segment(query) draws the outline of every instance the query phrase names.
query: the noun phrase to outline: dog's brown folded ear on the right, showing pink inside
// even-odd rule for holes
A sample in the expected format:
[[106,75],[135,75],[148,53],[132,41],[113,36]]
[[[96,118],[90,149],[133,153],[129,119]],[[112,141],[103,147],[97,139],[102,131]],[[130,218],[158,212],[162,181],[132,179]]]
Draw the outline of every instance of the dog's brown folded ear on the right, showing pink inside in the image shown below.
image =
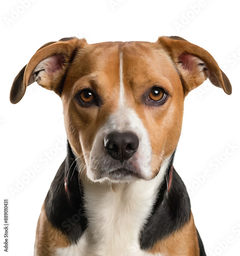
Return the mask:
[[225,93],[232,93],[227,76],[206,50],[178,36],[161,36],[157,42],[175,62],[183,78],[185,95],[200,86],[207,78],[214,86],[222,88]]

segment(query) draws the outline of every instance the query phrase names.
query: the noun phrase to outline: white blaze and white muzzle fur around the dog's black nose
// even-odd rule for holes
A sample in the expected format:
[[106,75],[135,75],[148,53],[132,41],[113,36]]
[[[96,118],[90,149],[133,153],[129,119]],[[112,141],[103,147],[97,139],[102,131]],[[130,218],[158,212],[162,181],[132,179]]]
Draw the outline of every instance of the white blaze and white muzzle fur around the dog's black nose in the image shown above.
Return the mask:
[[[144,179],[149,180],[153,174],[151,170],[151,157],[152,149],[148,137],[148,133],[134,109],[127,106],[127,102],[124,101],[124,84],[123,84],[123,59],[122,53],[120,52],[120,89],[119,89],[119,100],[118,100],[118,110],[108,117],[105,124],[99,129],[98,133],[95,135],[95,140],[90,153],[90,164],[87,164],[86,174],[94,182],[102,182],[106,179],[115,181],[111,178],[101,178],[97,177],[98,172],[102,168],[108,168],[105,162],[108,156],[106,149],[104,148],[104,138],[107,134],[111,132],[133,132],[139,138],[139,146],[137,152],[127,160],[129,162],[129,167],[133,167],[139,170]],[[85,162],[88,163],[88,160]],[[116,168],[116,166],[115,166]],[[113,170],[113,169],[111,169]],[[130,180],[129,180],[130,181]],[[119,182],[119,180],[116,180]]]

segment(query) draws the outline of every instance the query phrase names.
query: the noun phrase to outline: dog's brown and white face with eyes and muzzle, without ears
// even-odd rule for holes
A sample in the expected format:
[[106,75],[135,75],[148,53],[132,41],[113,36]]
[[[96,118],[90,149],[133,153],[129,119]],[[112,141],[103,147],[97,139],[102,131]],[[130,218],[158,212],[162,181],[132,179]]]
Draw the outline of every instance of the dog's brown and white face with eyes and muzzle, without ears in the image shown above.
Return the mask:
[[172,61],[141,42],[88,45],[79,52],[61,98],[70,144],[88,177],[155,177],[182,125],[184,93]]

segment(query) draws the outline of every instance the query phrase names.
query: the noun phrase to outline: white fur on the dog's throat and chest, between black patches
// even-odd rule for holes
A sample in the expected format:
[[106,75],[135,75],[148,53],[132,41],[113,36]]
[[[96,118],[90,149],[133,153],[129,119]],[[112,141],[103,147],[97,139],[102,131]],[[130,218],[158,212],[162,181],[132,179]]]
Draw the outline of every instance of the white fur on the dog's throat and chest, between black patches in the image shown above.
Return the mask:
[[77,245],[59,248],[56,255],[152,255],[140,249],[139,235],[165,178],[165,170],[162,167],[150,181],[129,184],[99,184],[81,179],[89,224]]

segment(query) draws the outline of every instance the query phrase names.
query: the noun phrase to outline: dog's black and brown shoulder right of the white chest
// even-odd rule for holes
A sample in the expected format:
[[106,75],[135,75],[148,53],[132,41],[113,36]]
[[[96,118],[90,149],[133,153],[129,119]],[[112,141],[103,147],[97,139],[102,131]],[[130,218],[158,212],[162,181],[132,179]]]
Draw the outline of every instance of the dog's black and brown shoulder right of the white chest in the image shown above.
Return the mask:
[[[169,177],[171,183],[169,188]],[[162,182],[158,199],[141,233],[141,248],[151,253],[206,256],[195,228],[186,186],[172,168]]]

